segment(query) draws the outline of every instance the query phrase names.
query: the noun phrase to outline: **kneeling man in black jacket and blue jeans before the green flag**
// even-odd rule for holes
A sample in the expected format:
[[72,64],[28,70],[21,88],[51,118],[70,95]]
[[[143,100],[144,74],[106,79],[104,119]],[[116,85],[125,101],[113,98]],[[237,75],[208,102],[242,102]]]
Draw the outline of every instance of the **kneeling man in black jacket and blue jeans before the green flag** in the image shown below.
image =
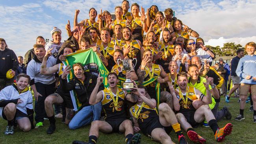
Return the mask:
[[[81,63],[76,63],[72,66],[75,78],[67,82],[67,75],[70,72],[70,66],[66,66],[61,76],[60,87],[65,90],[74,90],[77,94],[77,99],[82,107],[76,113],[69,123],[70,129],[78,129],[79,127],[90,124],[94,120],[100,120],[101,103],[95,105],[89,104],[89,98],[97,83],[97,76],[89,72],[84,72],[84,67]],[[104,89],[103,83],[98,88],[98,92]]]

